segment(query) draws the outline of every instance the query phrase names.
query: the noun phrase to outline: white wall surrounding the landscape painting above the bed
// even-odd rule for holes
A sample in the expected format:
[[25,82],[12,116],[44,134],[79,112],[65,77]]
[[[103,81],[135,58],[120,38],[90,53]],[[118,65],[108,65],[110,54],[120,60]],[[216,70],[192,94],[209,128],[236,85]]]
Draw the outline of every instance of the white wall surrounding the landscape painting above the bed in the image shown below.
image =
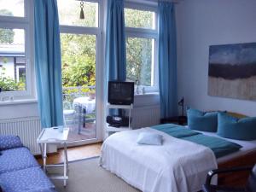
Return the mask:
[[255,0],[178,3],[178,95],[184,96],[185,104],[256,116],[256,102],[207,96],[209,45],[251,42],[256,42]]

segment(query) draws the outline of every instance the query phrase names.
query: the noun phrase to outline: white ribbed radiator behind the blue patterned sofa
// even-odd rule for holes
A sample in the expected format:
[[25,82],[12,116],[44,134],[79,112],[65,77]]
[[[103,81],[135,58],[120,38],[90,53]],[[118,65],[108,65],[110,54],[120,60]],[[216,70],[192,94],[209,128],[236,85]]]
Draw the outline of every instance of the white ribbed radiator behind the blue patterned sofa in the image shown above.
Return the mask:
[[40,154],[37,138],[42,131],[38,117],[19,119],[0,119],[0,135],[19,136],[22,143],[31,150],[32,154]]

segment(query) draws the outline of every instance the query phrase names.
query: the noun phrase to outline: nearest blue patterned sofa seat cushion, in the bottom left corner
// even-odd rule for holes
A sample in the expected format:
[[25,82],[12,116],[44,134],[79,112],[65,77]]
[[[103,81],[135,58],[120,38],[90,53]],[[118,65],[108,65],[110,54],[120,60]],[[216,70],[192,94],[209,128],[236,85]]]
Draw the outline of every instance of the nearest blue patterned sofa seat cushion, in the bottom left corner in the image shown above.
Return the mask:
[[0,174],[0,185],[4,192],[55,191],[55,186],[40,167]]

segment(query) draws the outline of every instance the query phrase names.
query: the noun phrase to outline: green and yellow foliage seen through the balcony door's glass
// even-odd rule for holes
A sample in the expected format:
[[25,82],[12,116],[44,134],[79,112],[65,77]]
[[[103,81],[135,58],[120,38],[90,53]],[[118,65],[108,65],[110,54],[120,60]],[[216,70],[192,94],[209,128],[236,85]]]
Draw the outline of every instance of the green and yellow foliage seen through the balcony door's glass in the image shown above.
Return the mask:
[[64,87],[95,85],[95,36],[61,34],[61,59]]

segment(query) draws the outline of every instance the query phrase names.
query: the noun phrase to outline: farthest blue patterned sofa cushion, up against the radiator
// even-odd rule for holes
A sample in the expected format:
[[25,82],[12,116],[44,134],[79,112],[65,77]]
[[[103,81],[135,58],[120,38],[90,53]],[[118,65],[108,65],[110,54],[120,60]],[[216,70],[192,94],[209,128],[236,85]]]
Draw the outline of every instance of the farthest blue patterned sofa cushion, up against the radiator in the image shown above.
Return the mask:
[[23,144],[18,136],[0,136],[0,150],[6,150],[9,148],[20,148]]

